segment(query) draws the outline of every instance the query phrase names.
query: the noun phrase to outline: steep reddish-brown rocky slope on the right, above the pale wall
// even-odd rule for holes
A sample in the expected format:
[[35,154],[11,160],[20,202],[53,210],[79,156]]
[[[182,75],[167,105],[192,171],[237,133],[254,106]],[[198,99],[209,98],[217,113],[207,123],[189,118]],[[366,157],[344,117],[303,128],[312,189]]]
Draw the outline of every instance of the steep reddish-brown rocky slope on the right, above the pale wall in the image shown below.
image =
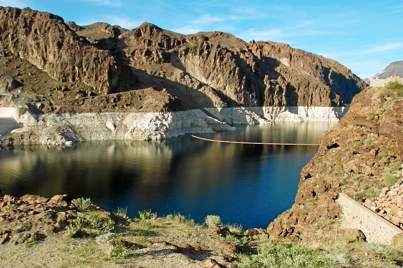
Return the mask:
[[[340,124],[325,133],[317,154],[302,169],[295,204],[267,227],[270,238],[332,237],[342,213],[335,203],[339,193],[355,195],[356,200],[370,208],[374,201],[381,205],[379,198],[375,200],[379,194],[382,201],[388,200],[390,194],[395,200],[386,206],[396,204],[396,209],[402,210],[403,197],[383,189],[401,184],[398,178],[402,176],[403,160],[402,111],[403,84],[398,82],[384,88],[367,87],[358,94],[349,112]],[[386,210],[379,214],[396,226],[403,226],[403,218],[396,218],[394,209],[389,209],[394,214]]]

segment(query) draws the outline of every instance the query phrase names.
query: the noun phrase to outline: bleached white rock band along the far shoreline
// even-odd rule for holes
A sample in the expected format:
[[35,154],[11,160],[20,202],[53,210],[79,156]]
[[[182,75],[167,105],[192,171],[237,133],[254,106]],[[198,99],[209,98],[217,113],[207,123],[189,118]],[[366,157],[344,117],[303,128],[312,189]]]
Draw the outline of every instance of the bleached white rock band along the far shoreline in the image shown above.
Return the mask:
[[35,114],[11,109],[10,114],[24,127],[12,131],[1,143],[69,145],[85,140],[160,140],[235,129],[228,124],[339,121],[346,110],[346,107],[240,107],[161,113]]

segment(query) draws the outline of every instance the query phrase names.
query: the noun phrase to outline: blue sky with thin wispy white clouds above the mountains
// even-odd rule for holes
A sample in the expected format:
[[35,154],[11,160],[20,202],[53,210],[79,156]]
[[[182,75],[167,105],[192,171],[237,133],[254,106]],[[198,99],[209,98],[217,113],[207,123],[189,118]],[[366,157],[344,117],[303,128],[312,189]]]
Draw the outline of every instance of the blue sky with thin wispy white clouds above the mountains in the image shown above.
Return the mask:
[[79,25],[132,29],[150,22],[182,34],[222,31],[247,42],[284,42],[337,60],[361,78],[403,60],[401,0],[0,0],[0,6],[28,6]]

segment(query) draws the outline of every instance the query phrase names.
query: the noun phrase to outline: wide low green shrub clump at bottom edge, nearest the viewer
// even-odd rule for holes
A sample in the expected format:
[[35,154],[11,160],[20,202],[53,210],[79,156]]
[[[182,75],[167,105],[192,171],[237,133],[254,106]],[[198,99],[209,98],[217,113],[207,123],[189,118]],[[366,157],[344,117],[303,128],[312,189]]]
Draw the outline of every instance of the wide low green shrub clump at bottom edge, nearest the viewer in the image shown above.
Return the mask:
[[299,267],[335,267],[335,256],[318,250],[311,250],[301,245],[275,244],[265,242],[257,255],[243,255],[240,268],[299,268]]

